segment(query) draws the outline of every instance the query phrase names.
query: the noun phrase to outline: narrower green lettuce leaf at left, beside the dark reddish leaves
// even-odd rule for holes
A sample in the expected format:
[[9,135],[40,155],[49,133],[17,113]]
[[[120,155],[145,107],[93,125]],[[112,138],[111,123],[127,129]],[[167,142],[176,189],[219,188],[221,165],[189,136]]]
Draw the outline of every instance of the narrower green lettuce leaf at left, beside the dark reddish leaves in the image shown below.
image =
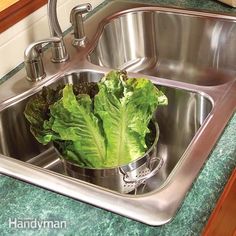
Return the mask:
[[105,159],[105,140],[101,124],[92,112],[89,95],[77,97],[72,85],[63,89],[63,97],[50,106],[51,118],[44,127],[51,128],[61,140],[71,141],[64,154],[68,159],[76,159],[90,167],[101,167]]

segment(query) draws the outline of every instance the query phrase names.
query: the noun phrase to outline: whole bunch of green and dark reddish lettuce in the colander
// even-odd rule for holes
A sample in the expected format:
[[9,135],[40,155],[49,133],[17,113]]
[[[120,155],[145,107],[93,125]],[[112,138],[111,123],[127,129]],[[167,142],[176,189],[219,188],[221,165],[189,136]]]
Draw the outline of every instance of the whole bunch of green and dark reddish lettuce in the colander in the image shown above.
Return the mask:
[[25,116],[39,142],[53,141],[64,158],[80,166],[105,168],[145,153],[148,124],[157,106],[166,104],[151,81],[111,71],[98,88],[87,83],[44,89],[29,101]]

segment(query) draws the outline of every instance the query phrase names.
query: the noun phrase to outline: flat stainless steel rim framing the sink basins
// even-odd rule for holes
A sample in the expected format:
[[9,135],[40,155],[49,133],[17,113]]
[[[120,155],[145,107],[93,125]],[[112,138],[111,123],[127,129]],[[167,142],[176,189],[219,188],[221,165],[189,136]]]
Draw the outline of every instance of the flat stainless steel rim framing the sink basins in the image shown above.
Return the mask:
[[[104,11],[100,11],[100,14],[101,12],[110,12],[111,9],[114,9],[114,6],[118,6],[119,4],[120,2],[109,3],[105,7],[106,9]],[[134,5],[128,4],[128,6]],[[125,5],[124,8],[125,7],[127,7],[127,5]],[[165,9],[170,10],[174,8]],[[180,9],[177,10],[181,11]],[[185,12],[187,10],[183,11]],[[104,17],[106,17],[106,14]],[[201,14],[208,15],[208,13]],[[219,16],[218,14],[210,15]],[[234,20],[236,19],[236,17],[229,18]],[[91,18],[88,18],[88,20],[85,22],[87,25],[86,27],[94,22],[93,19],[96,21],[96,14],[91,16]],[[91,27],[90,35],[99,35],[99,32],[95,31],[93,27]],[[96,38],[93,38],[93,40],[94,39]],[[71,36],[68,35],[66,37],[66,42],[70,42],[70,40]],[[10,89],[10,92],[8,96],[0,95],[0,111],[11,105],[13,102],[16,102],[17,99],[24,99],[25,97],[32,95],[33,93],[39,91],[43,85],[56,81],[58,77],[61,77],[63,74],[71,73],[71,71],[73,72],[75,70],[78,71],[91,69],[104,73],[108,72],[110,68],[94,66],[86,60],[86,55],[88,54],[91,46],[93,46],[93,42],[94,41],[91,41],[88,47],[79,53],[77,50],[71,47],[69,49],[70,52],[73,52],[71,61],[65,63],[64,65],[50,65],[50,67],[45,65],[46,71],[48,72],[48,77],[44,81],[33,85],[33,87],[32,84],[29,84],[29,82],[25,81],[25,73],[22,73],[22,71],[10,79],[9,83],[3,83],[1,85],[2,88],[4,90]],[[45,60],[49,60],[49,58],[50,53],[47,52]],[[78,59],[81,61],[79,66]],[[136,77],[142,75],[140,73],[129,74]],[[140,195],[138,197],[127,195],[124,197],[121,196],[121,194],[117,194],[110,190],[105,191],[100,187],[94,188],[93,185],[88,183],[85,184],[83,181],[74,181],[73,179],[70,179],[70,177],[65,178],[60,176],[60,174],[53,173],[49,170],[42,169],[29,163],[24,163],[24,165],[22,165],[21,161],[13,161],[12,158],[3,156],[1,154],[0,173],[10,175],[51,191],[55,191],[80,201],[90,203],[97,207],[102,207],[106,210],[113,211],[149,225],[157,226],[169,222],[178,210],[179,205],[183,201],[187,191],[192,186],[195,177],[199,174],[200,169],[207,160],[209,153],[215,145],[218,137],[221,135],[225,125],[235,112],[236,101],[233,100],[233,95],[235,95],[234,92],[236,91],[236,80],[223,85],[205,87],[186,84],[179,81],[169,81],[164,78],[158,78],[154,76],[144,76],[150,78],[153,81],[157,81],[160,85],[187,90],[189,89],[192,91],[198,91],[202,94],[207,94],[207,96],[211,97],[211,101],[214,103],[213,109],[210,112],[211,115],[208,115],[204,124],[199,129],[200,131],[198,130],[198,134],[196,134],[197,137],[201,135],[203,138],[198,139],[196,135],[194,136],[195,140],[185,153],[184,158],[182,157],[182,161],[179,163],[179,168],[175,171],[175,173],[173,173],[171,180],[165,186],[163,186],[163,188],[156,192]],[[24,85],[16,89],[14,86],[19,81],[23,81]],[[225,107],[225,104],[228,104],[228,106]],[[217,126],[218,123],[220,123],[220,125]],[[206,142],[202,141],[204,139]],[[196,165],[194,167],[192,165],[192,161],[195,161]],[[191,172],[191,174],[189,172]],[[27,173],[27,175],[25,173]],[[183,176],[186,177],[184,186]],[[173,192],[176,193],[174,196]],[[96,199],[94,199],[94,195],[96,195]],[[119,204],[114,204],[114,201],[119,202]]]

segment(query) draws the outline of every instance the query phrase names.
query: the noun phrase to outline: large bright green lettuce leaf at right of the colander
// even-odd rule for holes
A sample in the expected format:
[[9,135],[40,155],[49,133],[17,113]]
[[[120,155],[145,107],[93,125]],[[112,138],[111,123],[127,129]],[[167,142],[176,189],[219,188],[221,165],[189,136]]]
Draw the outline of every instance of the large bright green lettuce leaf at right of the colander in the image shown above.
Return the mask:
[[166,103],[147,79],[127,79],[124,72],[112,71],[101,80],[94,108],[107,140],[106,166],[126,164],[145,153],[148,124],[157,105]]

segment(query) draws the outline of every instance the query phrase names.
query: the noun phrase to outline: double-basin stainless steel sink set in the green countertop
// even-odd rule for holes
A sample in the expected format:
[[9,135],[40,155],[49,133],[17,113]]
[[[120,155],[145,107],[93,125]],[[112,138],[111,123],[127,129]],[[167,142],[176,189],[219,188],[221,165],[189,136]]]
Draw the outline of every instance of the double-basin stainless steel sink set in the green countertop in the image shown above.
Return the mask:
[[[47,77],[31,83],[20,70],[1,85],[0,172],[150,225],[167,223],[235,112],[236,18],[144,4],[111,2],[85,21],[88,45],[70,60],[49,62]],[[147,77],[163,90],[158,155],[164,165],[137,194],[121,194],[64,173],[52,145],[32,137],[23,111],[43,86],[98,81],[111,69]],[[114,204],[116,202],[117,204]]]

